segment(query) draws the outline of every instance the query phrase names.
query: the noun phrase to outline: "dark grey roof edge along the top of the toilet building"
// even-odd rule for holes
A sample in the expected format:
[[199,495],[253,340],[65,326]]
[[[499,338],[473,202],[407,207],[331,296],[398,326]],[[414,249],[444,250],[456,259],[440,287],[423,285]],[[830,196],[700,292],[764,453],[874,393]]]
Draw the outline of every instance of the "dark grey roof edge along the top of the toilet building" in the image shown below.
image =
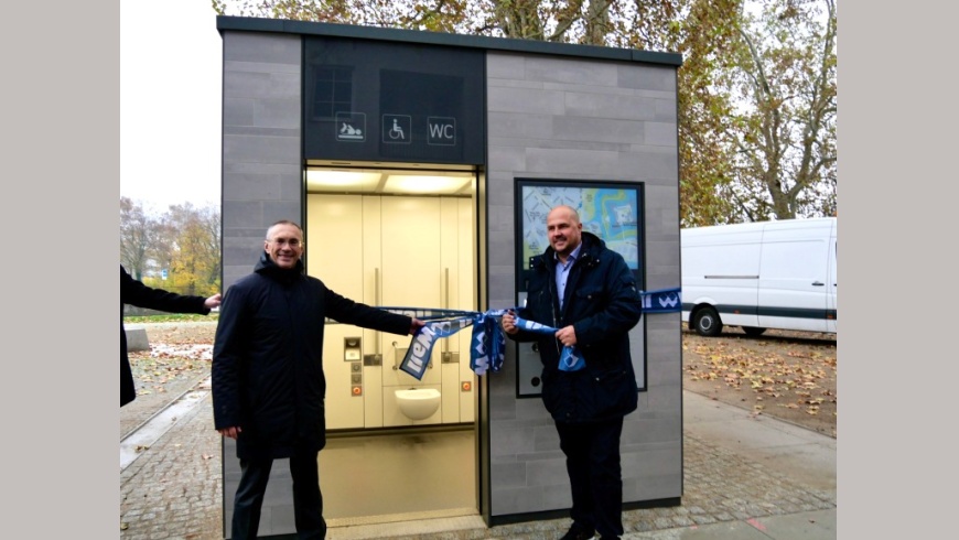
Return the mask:
[[335,37],[354,37],[357,40],[398,41],[406,43],[424,43],[430,45],[486,48],[493,51],[515,51],[560,56],[618,60],[626,62],[642,62],[646,64],[665,64],[677,67],[682,65],[682,55],[679,53],[601,47],[595,45],[577,45],[571,43],[553,43],[535,40],[489,37],[484,35],[448,34],[445,32],[385,29],[378,26],[355,26],[352,24],[330,22],[218,15],[216,18],[216,29],[220,34],[223,34],[224,30],[239,30],[302,35],[328,35]]

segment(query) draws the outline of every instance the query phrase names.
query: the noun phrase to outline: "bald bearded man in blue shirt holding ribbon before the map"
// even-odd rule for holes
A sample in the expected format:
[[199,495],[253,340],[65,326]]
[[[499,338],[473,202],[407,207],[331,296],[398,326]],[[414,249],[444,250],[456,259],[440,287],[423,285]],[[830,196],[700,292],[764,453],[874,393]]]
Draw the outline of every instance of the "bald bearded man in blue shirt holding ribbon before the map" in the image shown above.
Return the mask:
[[[643,304],[623,257],[583,233],[577,210],[557,206],[547,216],[549,248],[534,259],[527,303],[519,317],[557,328],[552,335],[503,316],[507,335],[537,342],[542,361],[542,401],[552,414],[567,456],[572,527],[562,540],[603,540],[623,533],[619,435],[623,417],[636,410],[638,387],[629,355],[629,330]],[[575,347],[569,361],[563,347]]]

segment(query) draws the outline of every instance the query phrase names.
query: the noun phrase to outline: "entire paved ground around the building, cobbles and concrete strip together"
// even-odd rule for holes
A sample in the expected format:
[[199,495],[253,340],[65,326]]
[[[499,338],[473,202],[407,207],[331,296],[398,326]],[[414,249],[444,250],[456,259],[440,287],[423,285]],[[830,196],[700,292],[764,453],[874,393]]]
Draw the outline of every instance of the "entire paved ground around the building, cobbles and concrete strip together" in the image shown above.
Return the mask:
[[[121,538],[223,538],[220,440],[212,418],[207,395],[121,472]],[[683,391],[682,504],[624,512],[623,539],[834,539],[836,443]],[[557,519],[486,528],[471,516],[332,527],[327,538],[549,540],[569,526]]]

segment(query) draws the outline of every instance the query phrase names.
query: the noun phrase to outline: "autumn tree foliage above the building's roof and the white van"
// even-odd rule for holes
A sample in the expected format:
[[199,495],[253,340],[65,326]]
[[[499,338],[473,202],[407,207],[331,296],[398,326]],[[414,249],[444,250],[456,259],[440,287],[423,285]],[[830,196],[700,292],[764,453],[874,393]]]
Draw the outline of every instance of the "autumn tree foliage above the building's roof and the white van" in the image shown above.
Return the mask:
[[834,215],[834,0],[213,0],[219,14],[682,54],[683,226]]

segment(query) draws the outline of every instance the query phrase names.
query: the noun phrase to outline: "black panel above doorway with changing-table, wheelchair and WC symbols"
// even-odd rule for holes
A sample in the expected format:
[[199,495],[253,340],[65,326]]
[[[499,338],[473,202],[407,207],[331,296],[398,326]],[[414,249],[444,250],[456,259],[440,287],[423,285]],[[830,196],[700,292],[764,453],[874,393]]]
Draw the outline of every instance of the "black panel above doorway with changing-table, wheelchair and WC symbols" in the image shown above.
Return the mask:
[[305,158],[482,164],[485,55],[304,37]]

